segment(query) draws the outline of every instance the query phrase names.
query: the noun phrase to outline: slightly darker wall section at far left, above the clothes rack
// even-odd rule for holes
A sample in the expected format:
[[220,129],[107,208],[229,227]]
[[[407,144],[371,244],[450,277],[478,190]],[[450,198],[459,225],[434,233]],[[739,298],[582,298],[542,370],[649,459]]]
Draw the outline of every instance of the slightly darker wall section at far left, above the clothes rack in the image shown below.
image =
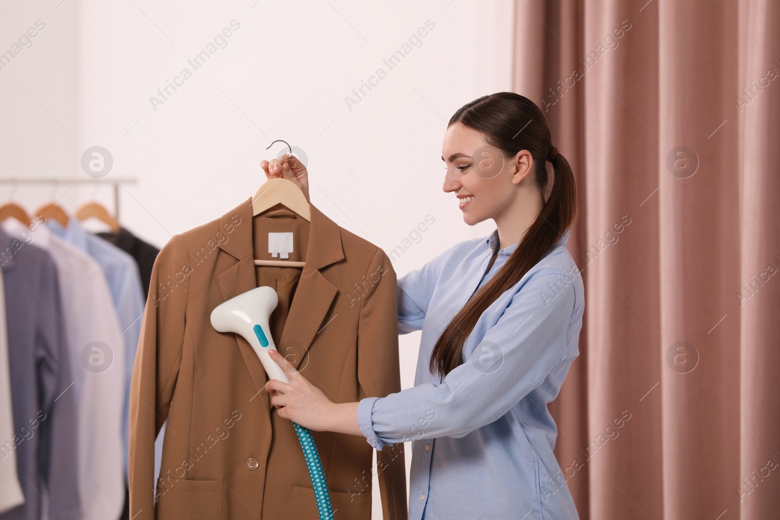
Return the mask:
[[[49,4],[0,4],[0,174],[5,179],[11,172],[51,176],[76,154],[80,6],[55,11],[57,5]],[[10,189],[0,186],[0,200]],[[42,193],[50,196],[51,187]],[[17,195],[25,196],[25,189]]]

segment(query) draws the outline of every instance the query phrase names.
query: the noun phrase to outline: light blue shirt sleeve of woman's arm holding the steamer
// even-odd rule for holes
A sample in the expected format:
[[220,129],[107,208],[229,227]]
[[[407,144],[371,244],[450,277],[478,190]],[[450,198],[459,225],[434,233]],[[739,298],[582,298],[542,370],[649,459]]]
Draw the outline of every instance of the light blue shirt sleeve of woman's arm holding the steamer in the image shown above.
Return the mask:
[[[562,279],[569,283],[561,283]],[[545,299],[551,284],[555,297]],[[488,329],[470,359],[441,384],[420,384],[385,398],[360,401],[357,419],[369,444],[435,437],[463,437],[492,423],[570,363],[569,331],[581,306],[575,284],[563,273],[527,281]],[[581,298],[581,296],[580,296]]]

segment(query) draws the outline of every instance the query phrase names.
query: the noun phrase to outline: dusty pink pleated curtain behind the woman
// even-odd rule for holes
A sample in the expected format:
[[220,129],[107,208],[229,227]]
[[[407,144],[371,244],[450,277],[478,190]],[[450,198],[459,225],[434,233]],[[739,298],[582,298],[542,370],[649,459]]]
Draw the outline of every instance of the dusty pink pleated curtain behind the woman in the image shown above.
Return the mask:
[[580,518],[780,518],[780,2],[519,0],[514,56],[577,179]]

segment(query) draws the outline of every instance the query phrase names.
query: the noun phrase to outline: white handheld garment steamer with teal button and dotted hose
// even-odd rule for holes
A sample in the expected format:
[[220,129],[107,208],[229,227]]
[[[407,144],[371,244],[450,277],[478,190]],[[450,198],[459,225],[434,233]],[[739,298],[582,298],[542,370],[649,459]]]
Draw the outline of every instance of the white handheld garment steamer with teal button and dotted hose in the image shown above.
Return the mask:
[[[243,292],[235,298],[222,302],[211,311],[211,326],[219,332],[235,332],[241,334],[252,345],[257,357],[263,364],[268,379],[278,379],[289,383],[289,377],[281,366],[278,366],[268,349],[276,349],[268,319],[278,304],[276,291],[267,285]],[[333,508],[328,494],[328,483],[325,481],[317,446],[308,428],[293,423],[298,440],[303,448],[303,456],[309,469],[309,476],[314,487],[314,497],[317,499],[317,511],[320,520],[332,520]]]

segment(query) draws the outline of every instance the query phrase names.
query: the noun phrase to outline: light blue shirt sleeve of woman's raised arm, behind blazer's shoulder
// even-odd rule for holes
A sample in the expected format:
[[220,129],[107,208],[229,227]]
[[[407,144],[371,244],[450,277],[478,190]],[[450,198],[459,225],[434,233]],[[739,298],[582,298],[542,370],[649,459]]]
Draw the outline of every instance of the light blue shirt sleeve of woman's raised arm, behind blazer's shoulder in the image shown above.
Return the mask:
[[420,331],[423,328],[428,303],[436,282],[452,249],[439,253],[420,269],[403,275],[398,281],[398,329],[401,334]]

